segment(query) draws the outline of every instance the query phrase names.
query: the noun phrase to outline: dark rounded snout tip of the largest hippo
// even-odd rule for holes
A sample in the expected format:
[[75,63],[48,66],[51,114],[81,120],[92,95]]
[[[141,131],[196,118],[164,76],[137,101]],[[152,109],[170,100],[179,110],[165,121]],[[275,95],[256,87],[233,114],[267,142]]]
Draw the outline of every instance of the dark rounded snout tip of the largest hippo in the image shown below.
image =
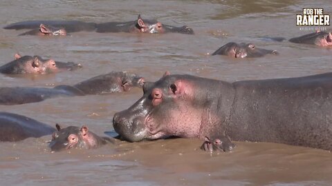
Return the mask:
[[142,119],[138,117],[129,118],[127,116],[130,116],[130,114],[127,114],[125,111],[114,114],[114,130],[126,141],[142,141],[146,134],[145,125],[142,122]]

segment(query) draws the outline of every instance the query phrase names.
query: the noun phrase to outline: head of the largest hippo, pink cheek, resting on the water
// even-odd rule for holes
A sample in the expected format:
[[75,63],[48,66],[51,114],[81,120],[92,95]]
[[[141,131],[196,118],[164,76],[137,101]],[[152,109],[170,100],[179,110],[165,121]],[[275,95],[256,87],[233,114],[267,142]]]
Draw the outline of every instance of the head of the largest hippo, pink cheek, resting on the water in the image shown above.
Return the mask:
[[114,130],[127,141],[169,136],[204,138],[209,123],[218,120],[215,114],[212,116],[210,99],[214,95],[208,90],[219,85],[220,81],[167,73],[159,81],[146,82],[142,98],[114,114]]

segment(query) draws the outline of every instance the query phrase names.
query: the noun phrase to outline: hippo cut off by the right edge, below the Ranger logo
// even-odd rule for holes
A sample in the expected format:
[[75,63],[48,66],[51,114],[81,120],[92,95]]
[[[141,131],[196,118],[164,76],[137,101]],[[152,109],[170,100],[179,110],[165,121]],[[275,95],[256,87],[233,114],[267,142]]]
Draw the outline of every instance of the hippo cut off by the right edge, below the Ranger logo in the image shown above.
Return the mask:
[[[279,42],[286,40],[284,37],[265,37],[264,39]],[[303,43],[308,45],[329,47],[332,45],[332,34],[331,32],[317,30],[314,33],[305,34],[301,37],[294,37],[292,39],[289,39],[288,41],[292,43]]]

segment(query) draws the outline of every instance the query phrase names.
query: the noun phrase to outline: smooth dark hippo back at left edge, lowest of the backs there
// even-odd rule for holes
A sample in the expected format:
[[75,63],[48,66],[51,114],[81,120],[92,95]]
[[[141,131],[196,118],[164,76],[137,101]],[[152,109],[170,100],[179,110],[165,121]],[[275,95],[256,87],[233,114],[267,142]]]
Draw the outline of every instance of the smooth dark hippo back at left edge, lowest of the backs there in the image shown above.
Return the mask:
[[0,141],[22,141],[55,132],[55,128],[19,114],[0,112]]

